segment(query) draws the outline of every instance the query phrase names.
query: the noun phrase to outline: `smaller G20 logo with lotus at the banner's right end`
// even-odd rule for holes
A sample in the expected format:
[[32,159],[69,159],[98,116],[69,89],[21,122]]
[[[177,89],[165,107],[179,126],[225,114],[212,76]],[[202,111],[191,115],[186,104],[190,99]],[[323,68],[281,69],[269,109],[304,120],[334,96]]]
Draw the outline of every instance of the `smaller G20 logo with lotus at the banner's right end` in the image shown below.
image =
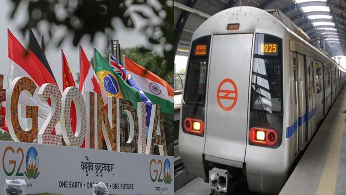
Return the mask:
[[[161,177],[162,170],[164,171],[163,179]],[[160,173],[159,173],[160,171]],[[172,168],[171,168],[171,162],[167,158],[165,162],[162,164],[161,159],[158,161],[155,160],[155,158],[151,159],[149,164],[149,175],[152,182],[165,182],[165,184],[171,184],[173,181],[172,178]]]

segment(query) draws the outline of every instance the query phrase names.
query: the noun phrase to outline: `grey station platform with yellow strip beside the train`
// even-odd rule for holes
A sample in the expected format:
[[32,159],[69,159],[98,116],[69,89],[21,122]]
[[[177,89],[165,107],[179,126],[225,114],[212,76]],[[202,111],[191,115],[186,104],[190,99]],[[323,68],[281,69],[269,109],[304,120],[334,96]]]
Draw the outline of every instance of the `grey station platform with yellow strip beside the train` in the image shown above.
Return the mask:
[[346,89],[319,127],[280,195],[346,194]]

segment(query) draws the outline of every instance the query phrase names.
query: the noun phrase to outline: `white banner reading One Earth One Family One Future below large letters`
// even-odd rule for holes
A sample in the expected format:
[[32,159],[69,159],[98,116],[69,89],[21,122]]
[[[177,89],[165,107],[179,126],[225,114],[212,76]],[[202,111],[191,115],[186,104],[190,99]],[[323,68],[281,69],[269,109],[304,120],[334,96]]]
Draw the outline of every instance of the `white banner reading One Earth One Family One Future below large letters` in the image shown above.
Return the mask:
[[27,194],[173,195],[173,156],[142,155],[0,141],[0,194],[5,179],[24,179]]

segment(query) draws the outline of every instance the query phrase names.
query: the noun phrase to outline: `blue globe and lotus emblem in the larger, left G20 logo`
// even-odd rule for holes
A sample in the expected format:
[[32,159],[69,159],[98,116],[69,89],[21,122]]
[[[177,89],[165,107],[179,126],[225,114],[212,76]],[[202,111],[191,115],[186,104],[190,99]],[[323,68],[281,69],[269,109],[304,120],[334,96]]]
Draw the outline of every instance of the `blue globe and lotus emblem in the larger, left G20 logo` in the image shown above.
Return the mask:
[[28,179],[36,179],[39,177],[40,172],[39,171],[39,155],[37,154],[37,151],[34,147],[30,147],[27,154],[26,154],[26,171],[24,171],[25,176],[27,176]]

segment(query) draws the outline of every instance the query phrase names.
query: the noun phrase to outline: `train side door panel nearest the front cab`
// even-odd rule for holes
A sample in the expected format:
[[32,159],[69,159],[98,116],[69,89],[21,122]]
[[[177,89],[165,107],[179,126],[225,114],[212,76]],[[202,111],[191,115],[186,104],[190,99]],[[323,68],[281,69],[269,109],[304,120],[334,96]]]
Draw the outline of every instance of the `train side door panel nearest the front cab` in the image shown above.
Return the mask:
[[297,54],[298,63],[297,63],[297,86],[298,86],[298,134],[299,140],[298,145],[301,150],[303,150],[306,141],[306,89],[305,89],[305,59],[304,56],[300,53]]

